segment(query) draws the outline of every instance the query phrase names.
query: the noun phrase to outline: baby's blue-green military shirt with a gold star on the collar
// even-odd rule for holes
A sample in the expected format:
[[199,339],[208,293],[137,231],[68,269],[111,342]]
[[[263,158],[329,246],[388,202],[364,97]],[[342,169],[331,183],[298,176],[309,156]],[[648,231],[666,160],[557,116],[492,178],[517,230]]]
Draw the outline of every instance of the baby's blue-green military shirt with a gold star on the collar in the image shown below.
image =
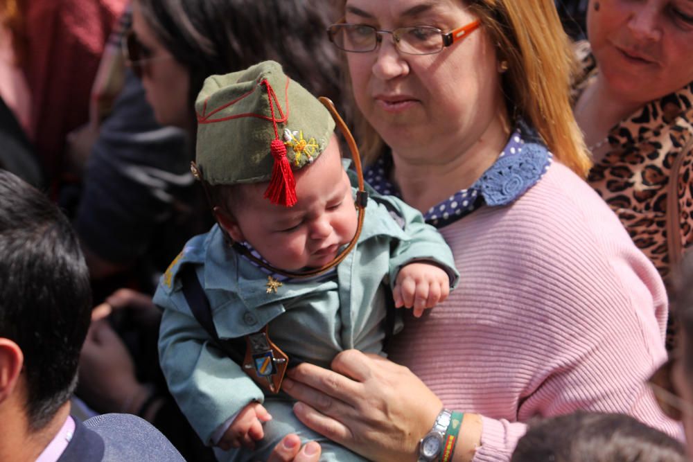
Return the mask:
[[[240,256],[213,226],[188,241],[155,294],[164,309],[159,338],[168,387],[202,441],[263,391],[217,348],[195,320],[178,272],[195,265],[221,339],[243,337],[268,324],[275,344],[289,357],[329,366],[342,350],[382,353],[387,287],[401,267],[429,260],[457,284],[453,255],[421,214],[394,197],[369,198],[356,247],[324,276],[282,281],[267,291],[267,270]],[[270,293],[268,293],[270,292]],[[286,400],[286,396],[284,397]],[[270,411],[272,412],[272,411]]]

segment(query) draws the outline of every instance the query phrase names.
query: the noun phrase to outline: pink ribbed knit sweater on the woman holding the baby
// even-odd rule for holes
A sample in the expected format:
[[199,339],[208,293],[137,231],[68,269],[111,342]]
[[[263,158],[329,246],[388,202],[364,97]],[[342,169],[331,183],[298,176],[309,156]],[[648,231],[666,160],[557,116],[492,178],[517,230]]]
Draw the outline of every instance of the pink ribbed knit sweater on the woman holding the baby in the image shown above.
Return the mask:
[[441,232],[459,286],[388,350],[446,407],[483,416],[475,462],[508,461],[529,418],[575,409],[683,438],[644,385],[666,356],[663,283],[588,184],[554,163],[513,204]]

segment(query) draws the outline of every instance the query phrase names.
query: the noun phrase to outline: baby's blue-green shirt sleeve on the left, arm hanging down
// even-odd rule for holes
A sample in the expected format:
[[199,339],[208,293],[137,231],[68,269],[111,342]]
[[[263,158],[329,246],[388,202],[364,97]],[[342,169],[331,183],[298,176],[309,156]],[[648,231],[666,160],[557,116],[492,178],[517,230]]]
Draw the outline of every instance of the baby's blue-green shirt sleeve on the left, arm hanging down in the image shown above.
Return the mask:
[[[263,402],[261,389],[210,341],[193,317],[181,290],[161,290],[155,303],[164,309],[159,361],[168,389],[202,441],[252,401]],[[231,392],[232,390],[232,392]]]

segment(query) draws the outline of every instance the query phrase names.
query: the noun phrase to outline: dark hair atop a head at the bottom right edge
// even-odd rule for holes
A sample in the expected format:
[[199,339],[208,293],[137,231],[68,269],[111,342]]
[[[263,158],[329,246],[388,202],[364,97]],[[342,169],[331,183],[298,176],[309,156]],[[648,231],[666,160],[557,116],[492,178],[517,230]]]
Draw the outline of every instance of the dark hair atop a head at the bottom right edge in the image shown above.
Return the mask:
[[684,462],[674,438],[625,414],[577,411],[530,421],[511,462]]

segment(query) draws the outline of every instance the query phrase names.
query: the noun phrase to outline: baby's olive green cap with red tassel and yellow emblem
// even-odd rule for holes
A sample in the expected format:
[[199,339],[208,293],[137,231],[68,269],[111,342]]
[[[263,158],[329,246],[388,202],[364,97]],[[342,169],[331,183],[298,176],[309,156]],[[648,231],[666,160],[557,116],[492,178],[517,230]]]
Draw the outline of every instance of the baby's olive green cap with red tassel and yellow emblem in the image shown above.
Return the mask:
[[273,204],[296,202],[292,170],[313,162],[335,130],[330,112],[308,90],[265,61],[204,80],[193,174],[210,185],[270,181]]

